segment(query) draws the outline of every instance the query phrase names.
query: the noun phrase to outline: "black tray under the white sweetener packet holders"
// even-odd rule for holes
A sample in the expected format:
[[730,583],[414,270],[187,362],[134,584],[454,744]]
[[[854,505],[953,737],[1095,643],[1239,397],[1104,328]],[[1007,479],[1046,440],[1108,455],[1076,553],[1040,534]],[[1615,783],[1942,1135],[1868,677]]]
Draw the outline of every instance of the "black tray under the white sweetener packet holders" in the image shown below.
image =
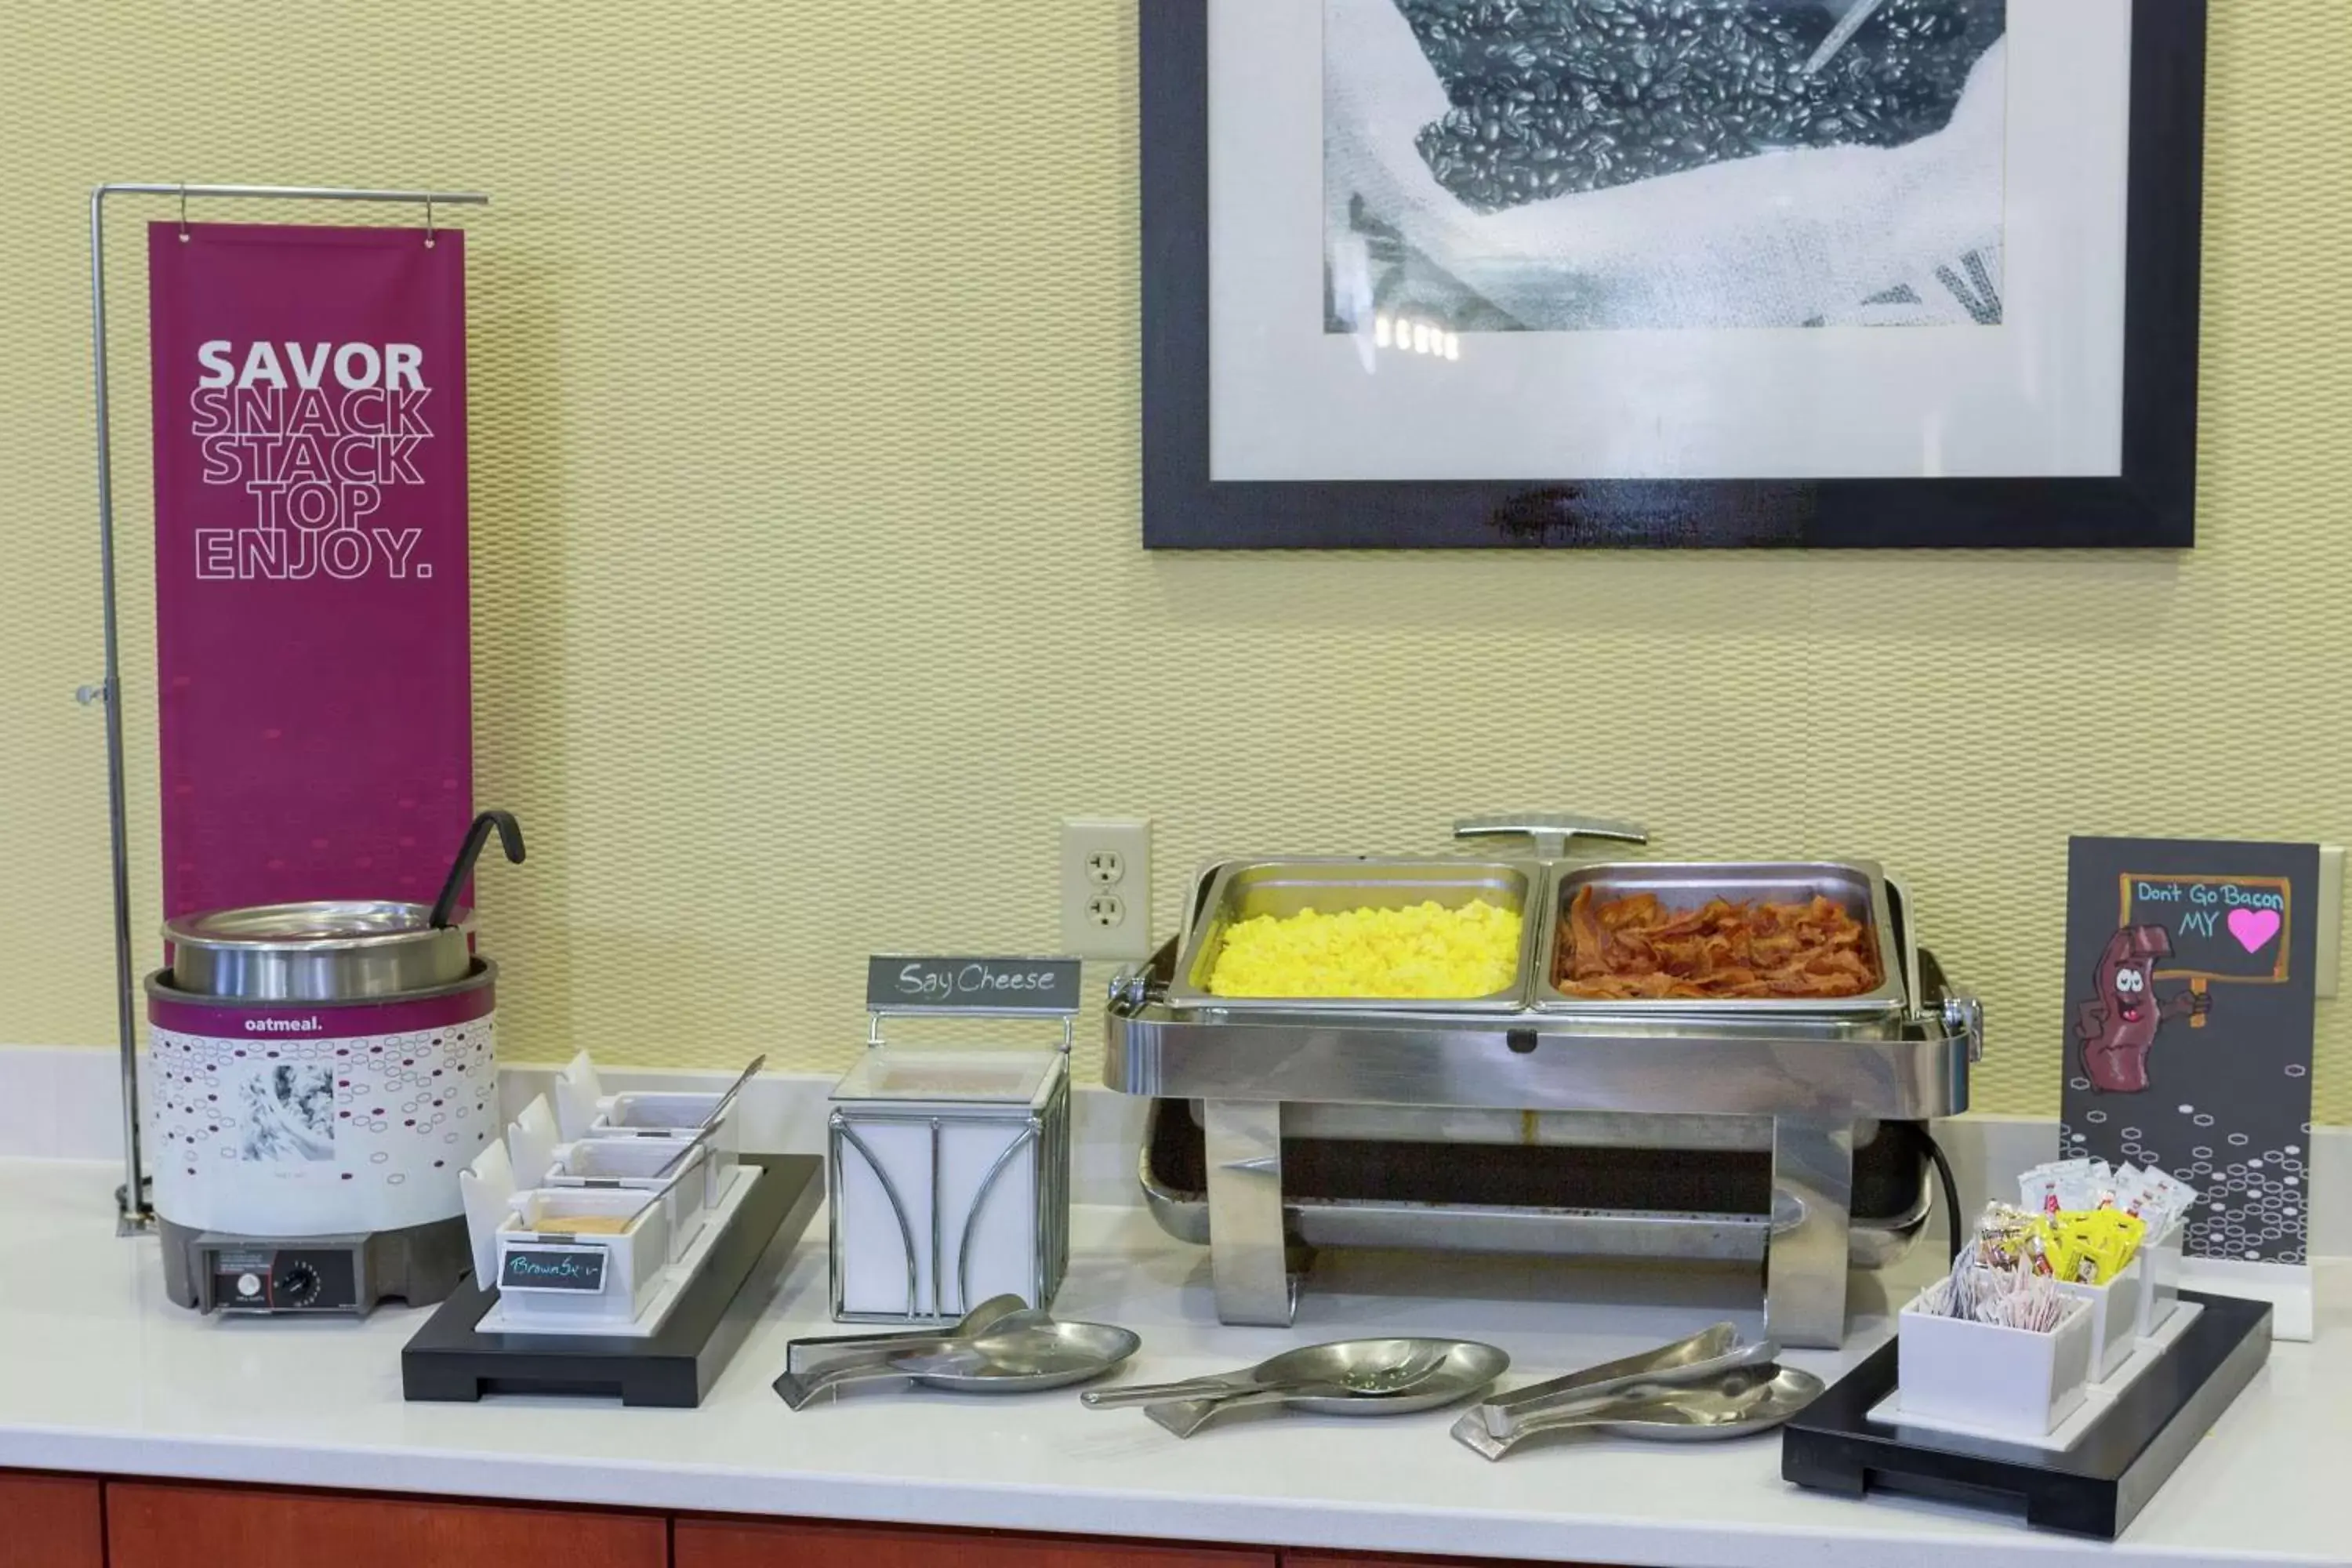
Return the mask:
[[1780,1476],[2004,1509],[2114,1540],[2270,1359],[2270,1302],[2180,1293],[2204,1307],[2065,1453],[1865,1420],[1896,1387],[1896,1345],[1856,1366],[1780,1436]]

